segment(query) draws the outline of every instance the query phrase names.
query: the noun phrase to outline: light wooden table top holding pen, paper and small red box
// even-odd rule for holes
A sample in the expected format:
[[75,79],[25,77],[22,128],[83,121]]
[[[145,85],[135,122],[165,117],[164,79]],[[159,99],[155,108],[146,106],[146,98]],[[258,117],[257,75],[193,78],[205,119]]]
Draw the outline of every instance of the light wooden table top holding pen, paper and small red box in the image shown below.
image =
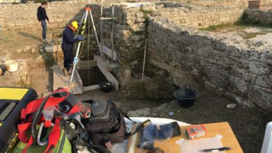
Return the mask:
[[[243,150],[241,149],[241,146],[239,145],[238,140],[236,139],[232,128],[229,126],[228,122],[218,122],[218,123],[211,123],[211,124],[203,124],[204,127],[207,130],[206,136],[202,136],[200,138],[212,138],[215,137],[216,135],[220,134],[222,135],[221,143],[222,146],[224,147],[232,147],[232,150],[226,151],[226,153],[243,153]],[[185,140],[188,140],[185,129],[190,126],[183,126],[181,127],[181,136],[176,136],[173,138],[170,138],[169,140],[156,140],[154,147],[160,147],[162,148],[165,152],[174,152],[174,153],[179,153],[180,151],[180,146],[176,144],[177,140],[180,140],[181,138],[184,138]],[[135,134],[135,140],[138,143],[139,142],[139,136],[140,134]],[[137,143],[135,143],[137,145]],[[139,153],[143,152],[139,150],[139,147],[134,146],[134,150],[131,151],[129,148],[133,147],[132,140],[130,138],[128,142],[128,148],[127,151],[128,153]],[[170,147],[169,147],[170,146]]]

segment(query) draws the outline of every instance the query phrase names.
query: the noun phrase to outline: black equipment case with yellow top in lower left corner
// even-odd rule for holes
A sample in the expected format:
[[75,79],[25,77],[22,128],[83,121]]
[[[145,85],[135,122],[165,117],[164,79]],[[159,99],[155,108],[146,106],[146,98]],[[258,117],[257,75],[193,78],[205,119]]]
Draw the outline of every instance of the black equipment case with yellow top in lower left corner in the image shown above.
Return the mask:
[[0,87],[0,152],[10,152],[17,136],[21,109],[37,97],[32,88]]

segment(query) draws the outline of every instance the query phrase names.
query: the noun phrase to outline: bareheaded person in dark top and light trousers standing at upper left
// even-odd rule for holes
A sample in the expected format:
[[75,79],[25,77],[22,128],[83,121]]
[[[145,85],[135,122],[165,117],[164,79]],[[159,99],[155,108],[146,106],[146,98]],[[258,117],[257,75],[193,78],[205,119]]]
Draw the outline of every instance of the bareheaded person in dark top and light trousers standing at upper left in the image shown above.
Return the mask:
[[46,39],[47,26],[46,26],[45,19],[47,20],[48,24],[50,24],[46,14],[46,10],[45,10],[46,7],[47,7],[47,2],[43,1],[42,5],[38,7],[38,11],[37,11],[37,18],[39,21],[39,25],[43,28],[43,42],[47,42],[47,39]]

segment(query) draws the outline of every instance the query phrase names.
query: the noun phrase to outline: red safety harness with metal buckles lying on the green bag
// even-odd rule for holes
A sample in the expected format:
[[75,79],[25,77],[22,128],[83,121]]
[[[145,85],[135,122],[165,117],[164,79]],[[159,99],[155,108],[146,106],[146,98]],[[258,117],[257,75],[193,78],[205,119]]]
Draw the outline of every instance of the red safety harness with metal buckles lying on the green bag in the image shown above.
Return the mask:
[[[61,103],[63,102],[68,104],[68,106],[71,106],[70,111],[67,113],[60,111]],[[86,129],[84,129],[80,118],[89,118],[90,114],[90,109],[87,109],[80,101],[75,101],[75,97],[69,94],[68,89],[64,88],[52,92],[47,97],[30,102],[27,104],[26,108],[21,110],[22,124],[18,125],[18,138],[20,138],[23,143],[27,143],[23,152],[27,152],[27,148],[32,144],[47,145],[45,152],[51,152],[59,141],[61,134],[61,120],[75,120],[82,129],[80,132],[81,134],[68,134],[68,138],[70,140],[75,139],[75,137],[84,137],[87,132]],[[36,130],[37,125],[40,126],[38,132]],[[52,127],[48,136],[48,142],[40,141],[40,133],[43,130],[43,127]],[[30,138],[28,137],[29,129],[31,129]]]

